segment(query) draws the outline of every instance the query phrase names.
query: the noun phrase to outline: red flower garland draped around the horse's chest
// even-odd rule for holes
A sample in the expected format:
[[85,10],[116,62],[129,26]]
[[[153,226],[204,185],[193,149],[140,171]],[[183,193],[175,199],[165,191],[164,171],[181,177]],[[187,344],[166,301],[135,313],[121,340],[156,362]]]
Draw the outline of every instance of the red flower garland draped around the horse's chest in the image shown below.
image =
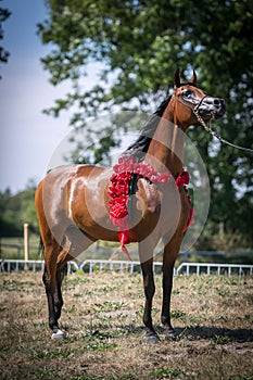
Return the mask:
[[[168,172],[157,173],[151,165],[142,162],[136,162],[136,157],[119,157],[118,163],[113,166],[113,175],[111,176],[111,186],[109,187],[109,195],[112,200],[109,202],[110,218],[118,230],[118,239],[123,252],[131,259],[125,244],[129,243],[129,225],[128,225],[128,201],[132,195],[131,178],[132,175],[147,178],[151,183],[167,185],[172,180],[172,174]],[[182,168],[182,172],[175,180],[176,186],[189,185],[189,173]],[[191,204],[190,197],[188,200]],[[184,232],[192,223],[193,208],[190,210],[190,215]]]

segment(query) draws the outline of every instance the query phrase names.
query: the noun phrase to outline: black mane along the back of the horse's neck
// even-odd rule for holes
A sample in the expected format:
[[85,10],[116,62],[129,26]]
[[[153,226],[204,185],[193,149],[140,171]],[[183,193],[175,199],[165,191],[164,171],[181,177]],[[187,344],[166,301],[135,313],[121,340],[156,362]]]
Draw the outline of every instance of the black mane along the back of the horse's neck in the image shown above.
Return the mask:
[[167,107],[172,96],[167,97],[157,107],[157,110],[149,117],[143,129],[140,132],[138,139],[131,143],[124,155],[135,155],[138,161],[143,160],[144,153],[147,153],[150,142],[154,136],[155,129],[159,125],[160,118],[163,116],[165,109]]

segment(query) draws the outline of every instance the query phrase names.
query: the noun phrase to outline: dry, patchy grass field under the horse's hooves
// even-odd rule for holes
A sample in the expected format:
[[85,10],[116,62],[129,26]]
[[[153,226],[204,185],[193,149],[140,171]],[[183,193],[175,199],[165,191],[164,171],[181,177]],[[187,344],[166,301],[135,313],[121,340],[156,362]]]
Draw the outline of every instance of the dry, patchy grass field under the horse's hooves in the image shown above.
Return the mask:
[[175,340],[143,341],[140,275],[71,275],[52,341],[41,274],[0,276],[1,379],[253,379],[253,278],[190,276],[174,281]]

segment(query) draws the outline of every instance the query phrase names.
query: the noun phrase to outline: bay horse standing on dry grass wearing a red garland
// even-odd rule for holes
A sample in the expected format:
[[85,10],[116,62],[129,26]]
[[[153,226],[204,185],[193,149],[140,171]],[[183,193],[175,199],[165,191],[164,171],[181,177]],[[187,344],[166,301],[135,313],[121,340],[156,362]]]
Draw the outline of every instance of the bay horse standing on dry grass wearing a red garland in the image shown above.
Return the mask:
[[[157,242],[163,241],[161,321],[165,337],[175,335],[169,315],[174,265],[191,213],[186,186],[189,178],[184,170],[185,132],[190,126],[224,114],[225,101],[206,94],[197,86],[195,71],[188,81],[181,83],[180,69],[177,69],[173,93],[124,152],[123,161],[116,165],[116,175],[112,167],[73,164],[51,169],[40,181],[35,204],[45,251],[42,281],[53,339],[64,338],[59,319],[67,262],[97,240],[118,239],[125,252],[126,243],[138,243],[144,290],[144,339],[151,343],[160,341],[152,322],[153,252]],[[130,167],[135,167],[130,176],[129,160]],[[121,193],[118,176],[128,191],[131,188],[126,197]],[[117,191],[119,198],[114,197]],[[115,204],[121,206],[115,203],[117,199],[125,202],[123,210],[127,210],[122,219],[112,212]]]

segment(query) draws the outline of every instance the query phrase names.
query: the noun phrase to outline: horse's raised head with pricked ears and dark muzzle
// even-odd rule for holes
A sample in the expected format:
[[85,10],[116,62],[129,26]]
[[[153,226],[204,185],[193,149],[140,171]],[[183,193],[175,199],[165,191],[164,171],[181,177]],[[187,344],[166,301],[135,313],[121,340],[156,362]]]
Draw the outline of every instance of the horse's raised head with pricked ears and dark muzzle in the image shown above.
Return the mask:
[[[200,118],[208,122],[211,118],[225,114],[225,101],[207,96],[197,87],[197,74],[193,71],[188,83],[181,84],[179,68],[174,75],[174,98],[177,101],[177,119],[184,127],[201,124]],[[199,116],[199,117],[198,117]]]

